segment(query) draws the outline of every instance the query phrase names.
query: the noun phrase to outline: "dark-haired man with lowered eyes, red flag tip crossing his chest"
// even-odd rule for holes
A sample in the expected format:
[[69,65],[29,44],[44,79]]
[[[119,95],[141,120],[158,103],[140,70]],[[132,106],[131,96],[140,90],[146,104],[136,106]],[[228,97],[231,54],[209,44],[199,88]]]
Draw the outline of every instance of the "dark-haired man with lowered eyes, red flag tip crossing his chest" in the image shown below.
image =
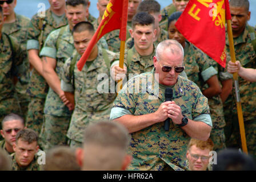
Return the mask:
[[88,22],[78,23],[74,27],[74,46],[78,52],[67,59],[63,66],[61,88],[65,93],[74,94],[75,102],[67,131],[71,147],[82,146],[83,131],[91,122],[109,119],[116,97],[115,84],[109,74],[110,60],[113,59],[114,52],[95,45],[82,71],[78,71],[77,61],[85,52],[93,34],[93,25]]

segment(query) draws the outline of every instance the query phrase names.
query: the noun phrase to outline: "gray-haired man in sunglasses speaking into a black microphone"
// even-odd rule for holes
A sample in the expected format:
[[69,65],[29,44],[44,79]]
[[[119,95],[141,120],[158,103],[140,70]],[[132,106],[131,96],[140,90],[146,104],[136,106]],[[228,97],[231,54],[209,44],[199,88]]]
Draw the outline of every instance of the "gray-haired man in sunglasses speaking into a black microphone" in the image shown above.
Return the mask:
[[[182,62],[181,45],[166,40],[158,44],[155,68],[131,78],[118,93],[110,119],[122,123],[131,133],[133,162],[128,169],[187,169],[185,154],[190,137],[209,138],[212,124],[207,98],[194,82],[174,69],[168,67],[169,72],[163,72],[166,65],[182,68]],[[167,87],[173,89],[173,98],[165,102]],[[169,131],[163,129],[167,118],[171,119]]]

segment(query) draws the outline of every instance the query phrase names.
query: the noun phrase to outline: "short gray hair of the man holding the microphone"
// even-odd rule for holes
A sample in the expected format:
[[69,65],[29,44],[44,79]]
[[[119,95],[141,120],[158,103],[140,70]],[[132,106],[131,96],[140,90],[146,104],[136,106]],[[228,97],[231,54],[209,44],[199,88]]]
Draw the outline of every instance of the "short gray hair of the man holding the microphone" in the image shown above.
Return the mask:
[[182,55],[183,62],[184,50],[177,40],[163,40],[161,43],[158,44],[155,51],[155,57],[157,57],[157,61],[161,60],[161,55],[163,54],[163,51],[165,51],[165,49],[168,49],[173,55]]

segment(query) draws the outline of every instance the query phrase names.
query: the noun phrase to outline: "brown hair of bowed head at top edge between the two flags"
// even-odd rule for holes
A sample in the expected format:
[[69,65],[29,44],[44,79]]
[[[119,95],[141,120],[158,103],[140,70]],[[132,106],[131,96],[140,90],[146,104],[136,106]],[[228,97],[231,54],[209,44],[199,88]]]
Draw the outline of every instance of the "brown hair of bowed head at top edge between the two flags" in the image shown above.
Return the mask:
[[160,10],[161,10],[161,6],[157,1],[144,0],[139,4],[137,13],[139,12],[160,13]]

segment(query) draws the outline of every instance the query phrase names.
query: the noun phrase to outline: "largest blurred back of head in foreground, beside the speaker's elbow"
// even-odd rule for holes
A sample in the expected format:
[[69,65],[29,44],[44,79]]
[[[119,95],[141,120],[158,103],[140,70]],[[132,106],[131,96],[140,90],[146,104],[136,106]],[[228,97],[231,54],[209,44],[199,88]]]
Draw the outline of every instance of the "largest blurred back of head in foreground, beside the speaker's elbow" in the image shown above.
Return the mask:
[[129,144],[130,135],[119,123],[89,125],[83,141],[83,170],[121,170]]

